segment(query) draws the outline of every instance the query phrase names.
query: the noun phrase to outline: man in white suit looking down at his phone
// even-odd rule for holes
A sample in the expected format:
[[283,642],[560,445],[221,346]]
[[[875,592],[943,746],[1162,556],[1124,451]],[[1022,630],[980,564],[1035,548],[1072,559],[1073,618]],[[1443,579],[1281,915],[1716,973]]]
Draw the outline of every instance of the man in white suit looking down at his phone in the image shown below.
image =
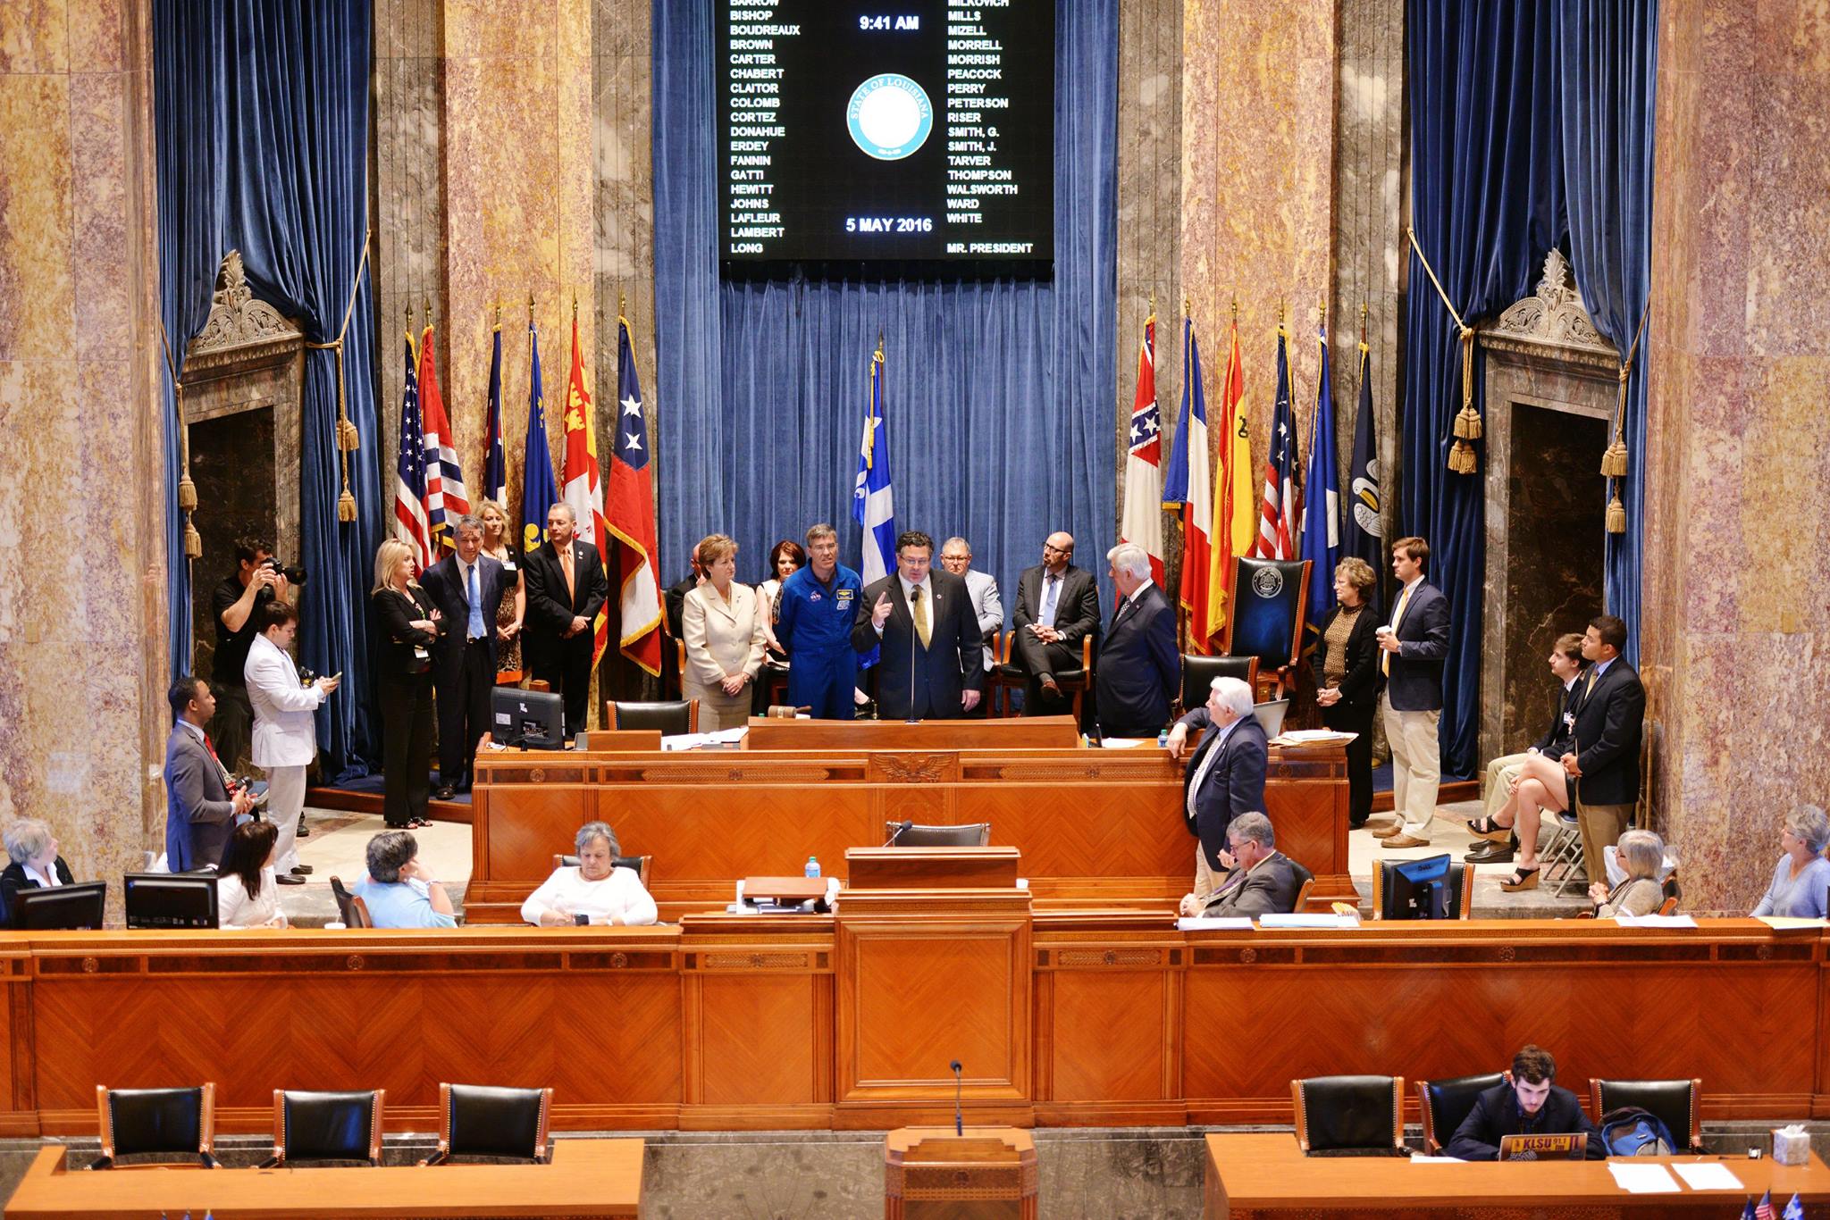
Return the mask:
[[280,832],[273,847],[273,871],[282,885],[300,885],[309,869],[300,867],[298,814],[306,808],[306,768],[318,757],[313,713],[337,690],[340,679],[298,680],[298,666],[285,649],[298,635],[298,611],[274,598],[260,607],[260,635],[247,649],[247,701],[254,708],[254,766],[267,774],[267,818]]

